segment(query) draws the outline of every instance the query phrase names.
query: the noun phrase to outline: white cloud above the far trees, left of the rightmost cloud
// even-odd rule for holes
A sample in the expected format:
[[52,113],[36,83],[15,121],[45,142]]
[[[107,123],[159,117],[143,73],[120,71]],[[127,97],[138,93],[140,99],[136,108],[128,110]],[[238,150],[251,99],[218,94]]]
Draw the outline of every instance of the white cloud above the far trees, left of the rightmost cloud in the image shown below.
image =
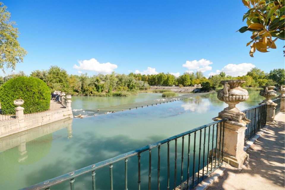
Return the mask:
[[213,62],[206,59],[200,59],[199,61],[197,60],[186,61],[186,63],[183,64],[182,66],[189,69],[188,71],[196,69],[197,71],[205,72],[212,70],[212,67],[209,66],[210,64],[213,64]]

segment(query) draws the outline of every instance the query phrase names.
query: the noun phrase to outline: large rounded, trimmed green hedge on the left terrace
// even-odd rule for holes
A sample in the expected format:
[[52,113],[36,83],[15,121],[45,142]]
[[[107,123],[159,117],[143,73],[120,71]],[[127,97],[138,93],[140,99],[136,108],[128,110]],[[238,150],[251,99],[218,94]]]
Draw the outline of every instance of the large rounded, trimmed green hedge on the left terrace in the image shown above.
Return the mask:
[[24,113],[34,113],[49,109],[50,91],[47,84],[34,77],[17,77],[0,87],[1,109],[14,109],[14,100],[23,99]]

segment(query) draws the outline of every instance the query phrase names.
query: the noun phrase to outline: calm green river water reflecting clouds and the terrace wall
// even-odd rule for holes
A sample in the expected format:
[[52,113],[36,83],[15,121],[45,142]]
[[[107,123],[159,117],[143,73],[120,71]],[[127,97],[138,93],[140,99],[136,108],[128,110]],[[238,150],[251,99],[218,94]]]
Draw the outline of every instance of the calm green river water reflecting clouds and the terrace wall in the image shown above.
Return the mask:
[[[243,110],[256,106],[263,100],[258,93],[249,92],[250,98],[237,107]],[[74,115],[84,114],[84,110],[157,98],[161,98],[161,95],[143,93],[130,97],[72,97],[72,109],[80,110],[75,111]],[[213,93],[124,112],[58,121],[4,137],[0,139],[0,189],[33,185],[208,124],[224,107],[227,104],[219,101],[216,93]],[[170,149],[173,162],[173,143]],[[166,188],[166,151],[166,147],[162,146],[161,189]],[[181,148],[178,148],[180,151]],[[152,188],[155,189],[157,150],[153,150],[153,155]],[[178,153],[179,156],[181,158],[181,153]],[[141,164],[141,189],[147,189],[148,152],[142,153]],[[137,189],[137,157],[129,158],[128,167],[128,188]],[[124,189],[124,161],[114,164],[113,172],[114,189]],[[110,189],[109,180],[109,167],[96,171],[96,189]],[[66,182],[51,189],[69,189],[69,186],[69,182]],[[91,189],[91,174],[75,178],[75,188]]]

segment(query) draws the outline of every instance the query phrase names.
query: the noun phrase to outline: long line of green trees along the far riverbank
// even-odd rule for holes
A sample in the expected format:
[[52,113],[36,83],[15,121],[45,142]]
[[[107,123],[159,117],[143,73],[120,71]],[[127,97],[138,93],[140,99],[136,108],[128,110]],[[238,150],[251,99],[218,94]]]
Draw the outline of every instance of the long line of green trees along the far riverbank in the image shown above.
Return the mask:
[[[17,74],[10,74],[0,77],[0,85],[11,78],[26,76],[22,71]],[[222,87],[222,80],[245,80],[243,86],[261,87],[263,85],[284,85],[284,69],[273,69],[265,73],[261,69],[253,68],[246,75],[232,77],[220,72],[218,75],[205,77],[201,71],[192,73],[183,73],[175,77],[170,73],[158,73],[156,75],[142,75],[129,73],[118,74],[111,73],[107,75],[98,74],[88,76],[87,73],[81,75],[68,75],[65,69],[58,66],[50,66],[47,70],[35,70],[29,75],[31,77],[43,80],[50,92],[54,90],[65,91],[72,95],[83,96],[127,96],[137,91],[148,90],[150,85],[172,86],[193,86],[202,84],[207,86],[206,90]]]

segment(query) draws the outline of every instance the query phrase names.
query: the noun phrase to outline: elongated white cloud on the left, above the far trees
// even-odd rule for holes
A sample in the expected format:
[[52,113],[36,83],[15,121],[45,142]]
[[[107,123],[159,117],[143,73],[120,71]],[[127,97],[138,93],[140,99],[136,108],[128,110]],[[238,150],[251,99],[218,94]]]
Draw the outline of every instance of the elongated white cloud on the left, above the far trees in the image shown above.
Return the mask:
[[99,63],[96,59],[92,58],[90,60],[78,61],[79,66],[76,64],[73,66],[73,69],[80,69],[85,71],[95,71],[102,74],[110,74],[114,69],[117,69],[118,66],[111,63]]

